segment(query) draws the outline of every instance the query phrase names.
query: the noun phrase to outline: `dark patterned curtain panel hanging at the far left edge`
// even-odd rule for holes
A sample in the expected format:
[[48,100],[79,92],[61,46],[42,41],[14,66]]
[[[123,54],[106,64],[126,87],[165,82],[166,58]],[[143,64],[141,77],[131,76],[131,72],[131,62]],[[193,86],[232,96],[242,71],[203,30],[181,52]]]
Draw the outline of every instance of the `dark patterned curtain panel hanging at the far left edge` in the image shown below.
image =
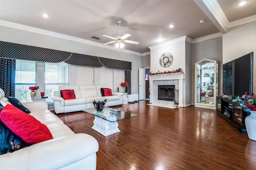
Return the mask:
[[0,88],[5,96],[14,96],[15,91],[15,59],[0,58]]

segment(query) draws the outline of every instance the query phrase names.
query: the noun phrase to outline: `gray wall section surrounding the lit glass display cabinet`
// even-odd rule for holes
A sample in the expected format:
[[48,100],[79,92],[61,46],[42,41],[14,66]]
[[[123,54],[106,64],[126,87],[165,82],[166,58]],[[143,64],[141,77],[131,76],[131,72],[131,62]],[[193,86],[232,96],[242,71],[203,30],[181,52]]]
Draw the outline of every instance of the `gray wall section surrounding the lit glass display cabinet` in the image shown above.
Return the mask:
[[[195,63],[204,58],[218,61],[218,95],[222,94],[222,37],[205,40],[202,42],[192,43],[192,103],[194,103],[195,95]],[[217,96],[218,96],[217,95]]]

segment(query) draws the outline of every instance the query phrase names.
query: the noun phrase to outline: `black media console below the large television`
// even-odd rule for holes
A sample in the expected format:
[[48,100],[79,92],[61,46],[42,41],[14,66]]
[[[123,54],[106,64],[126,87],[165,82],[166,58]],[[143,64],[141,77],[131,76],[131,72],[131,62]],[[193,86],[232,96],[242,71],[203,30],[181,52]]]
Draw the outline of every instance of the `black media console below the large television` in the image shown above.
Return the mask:
[[238,132],[246,132],[244,120],[250,115],[243,109],[239,109],[232,99],[234,96],[222,95],[217,97],[216,113],[234,126]]

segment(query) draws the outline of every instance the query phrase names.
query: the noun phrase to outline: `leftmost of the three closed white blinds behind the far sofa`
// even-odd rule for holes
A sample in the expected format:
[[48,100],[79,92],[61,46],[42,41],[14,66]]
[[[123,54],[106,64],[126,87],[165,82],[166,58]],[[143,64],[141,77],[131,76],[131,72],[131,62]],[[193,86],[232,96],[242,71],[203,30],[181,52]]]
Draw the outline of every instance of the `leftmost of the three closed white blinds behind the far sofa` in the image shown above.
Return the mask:
[[94,68],[92,67],[75,67],[76,85],[94,85]]

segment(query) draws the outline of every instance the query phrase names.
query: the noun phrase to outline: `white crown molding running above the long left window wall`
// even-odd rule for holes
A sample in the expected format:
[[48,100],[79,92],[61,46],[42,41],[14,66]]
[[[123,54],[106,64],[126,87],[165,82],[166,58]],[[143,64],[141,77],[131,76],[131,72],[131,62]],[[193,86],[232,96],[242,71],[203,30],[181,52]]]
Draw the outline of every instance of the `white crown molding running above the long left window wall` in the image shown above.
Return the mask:
[[[93,42],[93,41],[90,41],[90,40],[85,40],[85,39],[77,38],[77,37],[73,37],[73,36],[68,36],[66,34],[60,34],[60,33],[57,33],[57,32],[43,30],[43,29],[40,29],[40,28],[26,26],[26,25],[14,23],[14,22],[6,21],[6,20],[0,20],[0,26],[14,28],[14,29],[18,29],[18,30],[27,31],[27,32],[33,32],[33,33],[42,34],[42,35],[45,35],[45,36],[52,36],[52,37],[61,38],[61,39],[64,39],[64,40],[70,40],[70,41],[79,42],[79,43],[84,43],[84,44],[88,44],[88,45],[94,45],[94,46],[102,47],[102,48],[106,48],[106,49],[117,50],[116,47],[113,47],[113,46],[110,46],[110,45],[106,45],[106,44],[102,44],[102,43],[98,43],[98,42]],[[131,50],[128,50],[128,49],[122,49],[121,51],[125,52],[125,53],[130,53],[130,54],[142,56],[142,53],[138,53],[136,51],[131,51]]]

